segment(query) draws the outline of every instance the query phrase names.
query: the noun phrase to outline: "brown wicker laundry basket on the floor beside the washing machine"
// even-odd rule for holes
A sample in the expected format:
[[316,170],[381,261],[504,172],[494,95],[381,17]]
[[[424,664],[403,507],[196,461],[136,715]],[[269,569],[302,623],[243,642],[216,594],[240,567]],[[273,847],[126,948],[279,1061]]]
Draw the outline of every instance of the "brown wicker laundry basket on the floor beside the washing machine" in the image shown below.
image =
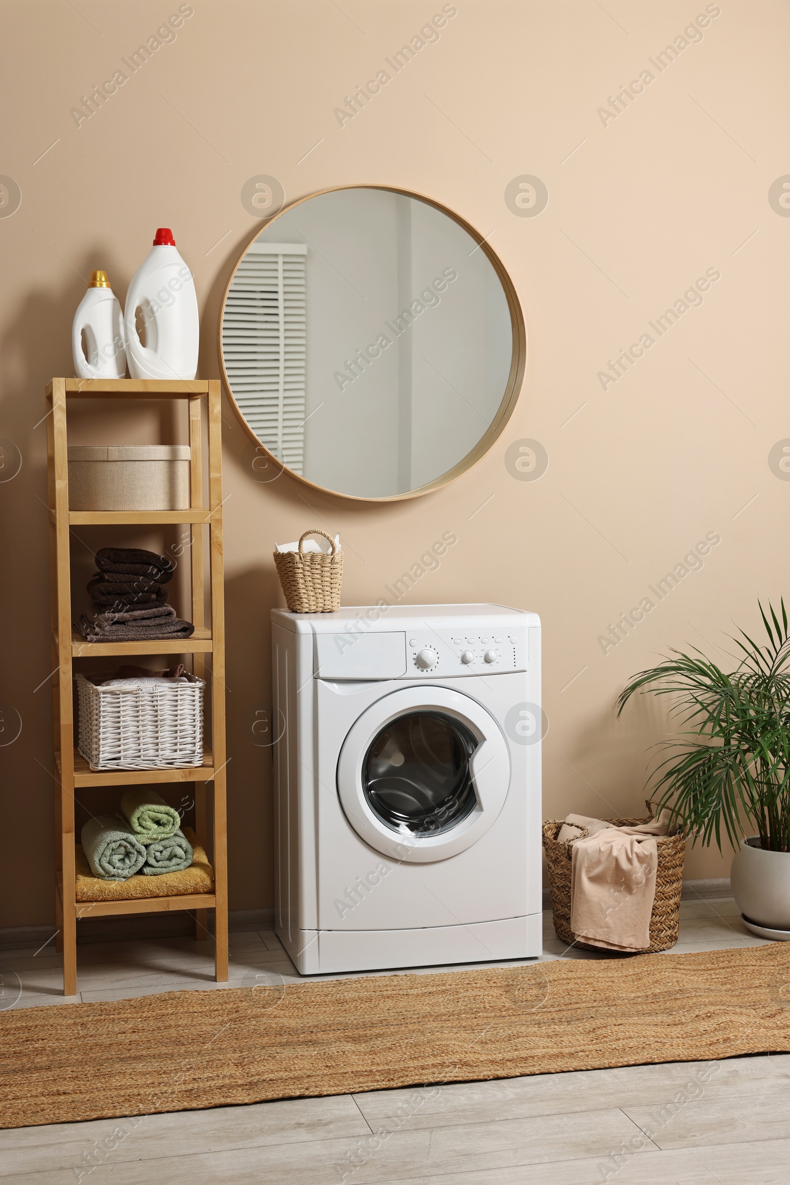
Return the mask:
[[[614,827],[635,827],[649,822],[653,818],[650,803],[646,802],[648,815],[644,819],[606,819]],[[599,950],[573,937],[571,931],[571,860],[573,840],[558,843],[557,835],[563,826],[558,819],[547,819],[544,824],[544,851],[548,865],[548,886],[552,896],[552,912],[557,936],[584,950]],[[586,827],[583,827],[589,834]],[[683,885],[683,860],[686,857],[686,835],[659,835],[659,867],[656,870],[656,895],[650,914],[650,946],[646,954],[655,950],[668,950],[677,942],[680,934],[680,890]]]

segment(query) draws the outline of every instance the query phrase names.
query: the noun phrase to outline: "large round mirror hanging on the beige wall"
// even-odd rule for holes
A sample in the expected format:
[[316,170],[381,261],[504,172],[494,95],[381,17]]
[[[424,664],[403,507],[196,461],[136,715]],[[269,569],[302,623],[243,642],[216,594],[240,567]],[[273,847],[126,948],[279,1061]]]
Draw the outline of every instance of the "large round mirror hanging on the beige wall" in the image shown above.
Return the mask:
[[526,360],[488,243],[436,203],[381,186],[329,190],[271,218],[231,276],[219,339],[257,453],[360,499],[426,493],[480,460]]

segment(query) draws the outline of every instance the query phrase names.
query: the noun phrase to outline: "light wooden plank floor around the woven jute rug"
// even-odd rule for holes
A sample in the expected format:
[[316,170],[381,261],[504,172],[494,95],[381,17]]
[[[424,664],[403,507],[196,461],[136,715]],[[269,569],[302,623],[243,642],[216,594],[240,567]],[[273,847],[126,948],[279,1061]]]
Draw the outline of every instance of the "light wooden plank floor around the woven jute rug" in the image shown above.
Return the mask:
[[[760,944],[731,899],[683,902],[681,918],[676,953]],[[550,914],[544,930],[545,959],[596,957],[565,950]],[[82,946],[71,1003],[221,991],[211,950],[199,949],[187,939]],[[230,955],[230,987],[298,979],[271,933],[231,934]],[[4,952],[0,1006],[11,1003],[13,973],[23,988],[14,1007],[68,1003],[58,967],[51,948]],[[0,1132],[0,1185],[79,1181],[790,1185],[790,1053]]]

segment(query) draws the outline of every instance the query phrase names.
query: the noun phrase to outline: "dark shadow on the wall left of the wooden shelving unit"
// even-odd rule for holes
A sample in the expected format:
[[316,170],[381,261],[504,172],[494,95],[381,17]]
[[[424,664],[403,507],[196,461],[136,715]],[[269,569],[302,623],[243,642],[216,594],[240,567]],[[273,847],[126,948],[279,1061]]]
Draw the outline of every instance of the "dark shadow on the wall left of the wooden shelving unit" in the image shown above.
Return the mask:
[[[47,545],[46,405],[53,374],[72,374],[71,322],[90,273],[116,260],[109,248],[85,252],[81,275],[62,286],[31,284],[0,339],[1,435],[21,455],[19,473],[0,482],[0,581],[4,621],[0,702],[19,713],[17,739],[0,747],[2,812],[9,834],[36,834],[36,857],[12,845],[0,867],[2,924],[45,923],[54,916],[52,870],[52,700],[50,675],[50,578]],[[59,269],[59,265],[58,265]],[[19,893],[19,885],[25,893]]]

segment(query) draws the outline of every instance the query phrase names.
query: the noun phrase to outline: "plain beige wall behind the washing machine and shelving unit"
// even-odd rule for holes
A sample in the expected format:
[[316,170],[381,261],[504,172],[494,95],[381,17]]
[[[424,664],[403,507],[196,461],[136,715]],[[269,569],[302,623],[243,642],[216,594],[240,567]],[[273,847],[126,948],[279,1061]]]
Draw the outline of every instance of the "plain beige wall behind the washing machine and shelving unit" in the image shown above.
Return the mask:
[[[666,724],[647,702],[617,723],[624,680],[669,646],[720,654],[713,647],[727,648],[733,623],[757,628],[758,596],[783,591],[790,485],[767,455],[790,436],[790,222],[767,191],[788,169],[785,5],[721,0],[704,40],[659,75],[648,58],[705,11],[701,0],[610,0],[609,14],[591,0],[457,0],[441,40],[343,127],[333,108],[439,0],[193,7],[176,40],[79,128],[70,108],[178,5],[5,8],[0,173],[23,194],[0,218],[0,436],[23,457],[19,475],[0,483],[0,699],[23,720],[0,748],[5,925],[53,917],[51,716],[49,685],[39,687],[51,668],[44,386],[72,372],[71,319],[90,270],[105,268],[123,299],[159,225],[174,230],[195,273],[199,374],[218,374],[219,303],[255,228],[240,200],[250,177],[272,174],[288,198],[393,184],[457,210],[490,236],[514,280],[529,358],[489,455],[445,489],[394,505],[321,497],[287,476],[256,483],[226,408],[232,908],[272,899],[270,763],[251,725],[270,703],[268,619],[282,603],[275,539],[316,524],[340,531],[343,598],[354,604],[381,596],[451,530],[458,544],[412,602],[493,600],[540,614],[545,816],[638,811],[646,750]],[[604,127],[598,107],[644,69],[653,84]],[[539,217],[506,205],[522,174],[548,188]],[[602,390],[606,360],[708,268],[720,280],[704,305]],[[83,427],[83,440],[156,438],[147,418],[127,417],[124,435],[98,421]],[[535,482],[515,480],[505,461],[525,437],[550,456]],[[705,568],[604,655],[597,635],[707,532],[721,542]],[[715,851],[688,860],[694,877],[727,866]]]

